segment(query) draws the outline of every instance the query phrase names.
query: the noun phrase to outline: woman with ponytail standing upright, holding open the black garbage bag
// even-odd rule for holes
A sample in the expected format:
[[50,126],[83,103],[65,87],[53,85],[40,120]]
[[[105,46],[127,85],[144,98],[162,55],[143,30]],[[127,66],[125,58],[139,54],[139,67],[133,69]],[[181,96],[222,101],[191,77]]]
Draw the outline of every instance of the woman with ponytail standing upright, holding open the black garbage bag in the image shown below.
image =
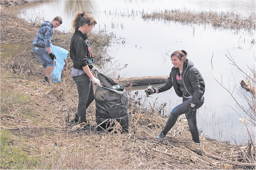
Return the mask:
[[97,22],[90,14],[77,12],[72,23],[75,32],[70,42],[70,58],[73,61],[71,75],[76,82],[79,95],[77,112],[73,121],[85,124],[87,123],[86,109],[94,100],[93,83],[101,86],[99,79],[92,74],[99,70],[93,65],[94,56],[87,40],[88,33]]

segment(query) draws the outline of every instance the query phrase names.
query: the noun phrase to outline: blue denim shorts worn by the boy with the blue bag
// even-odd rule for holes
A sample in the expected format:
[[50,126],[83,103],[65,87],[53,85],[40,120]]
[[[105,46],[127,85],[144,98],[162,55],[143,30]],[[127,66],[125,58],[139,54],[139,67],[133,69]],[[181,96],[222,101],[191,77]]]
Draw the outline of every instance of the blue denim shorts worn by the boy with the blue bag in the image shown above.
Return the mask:
[[56,60],[52,60],[52,58],[50,58],[46,48],[33,46],[33,52],[38,57],[43,68],[47,68],[47,66],[56,66]]

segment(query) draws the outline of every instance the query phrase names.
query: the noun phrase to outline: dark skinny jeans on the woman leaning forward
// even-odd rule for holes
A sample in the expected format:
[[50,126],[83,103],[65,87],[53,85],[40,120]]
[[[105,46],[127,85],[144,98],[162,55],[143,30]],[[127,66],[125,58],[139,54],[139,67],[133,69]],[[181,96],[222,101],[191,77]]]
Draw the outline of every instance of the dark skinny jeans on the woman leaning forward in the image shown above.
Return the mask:
[[[175,108],[172,109],[172,112],[170,113],[170,117],[168,121],[166,122],[166,126],[163,128],[162,133],[163,135],[166,135],[174,126],[174,124],[177,121],[177,118],[179,115],[182,115],[185,113],[185,116],[187,118],[189,108],[191,106],[192,98],[184,98],[183,97],[183,103],[179,104]],[[196,123],[196,110],[201,107],[204,104],[204,97],[201,98],[200,101],[198,101],[198,104],[195,105],[195,111],[193,112],[192,116],[187,118],[188,124],[189,124],[189,130],[192,135],[192,139],[196,143],[200,143],[199,139],[199,133],[198,133],[198,127]]]

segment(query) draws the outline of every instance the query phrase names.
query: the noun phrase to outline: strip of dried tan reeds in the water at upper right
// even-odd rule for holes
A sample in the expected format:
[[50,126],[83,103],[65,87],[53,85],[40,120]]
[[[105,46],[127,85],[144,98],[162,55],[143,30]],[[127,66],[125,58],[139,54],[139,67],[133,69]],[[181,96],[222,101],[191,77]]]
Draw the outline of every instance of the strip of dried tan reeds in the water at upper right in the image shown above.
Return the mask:
[[186,9],[172,9],[152,12],[151,14],[143,11],[142,18],[183,24],[211,24],[214,28],[255,30],[255,13],[253,12],[249,17],[243,17],[235,12],[196,12]]

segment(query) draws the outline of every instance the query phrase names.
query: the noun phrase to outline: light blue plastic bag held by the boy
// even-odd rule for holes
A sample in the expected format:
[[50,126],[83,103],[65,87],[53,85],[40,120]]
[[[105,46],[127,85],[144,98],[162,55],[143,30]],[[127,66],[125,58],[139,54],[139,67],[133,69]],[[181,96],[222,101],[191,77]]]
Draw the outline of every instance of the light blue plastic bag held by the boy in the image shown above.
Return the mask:
[[67,54],[69,53],[66,49],[61,48],[59,46],[54,46],[51,44],[52,53],[56,56],[56,66],[52,71],[52,75],[49,77],[53,82],[61,81],[61,72],[65,65],[65,61],[67,59]]

